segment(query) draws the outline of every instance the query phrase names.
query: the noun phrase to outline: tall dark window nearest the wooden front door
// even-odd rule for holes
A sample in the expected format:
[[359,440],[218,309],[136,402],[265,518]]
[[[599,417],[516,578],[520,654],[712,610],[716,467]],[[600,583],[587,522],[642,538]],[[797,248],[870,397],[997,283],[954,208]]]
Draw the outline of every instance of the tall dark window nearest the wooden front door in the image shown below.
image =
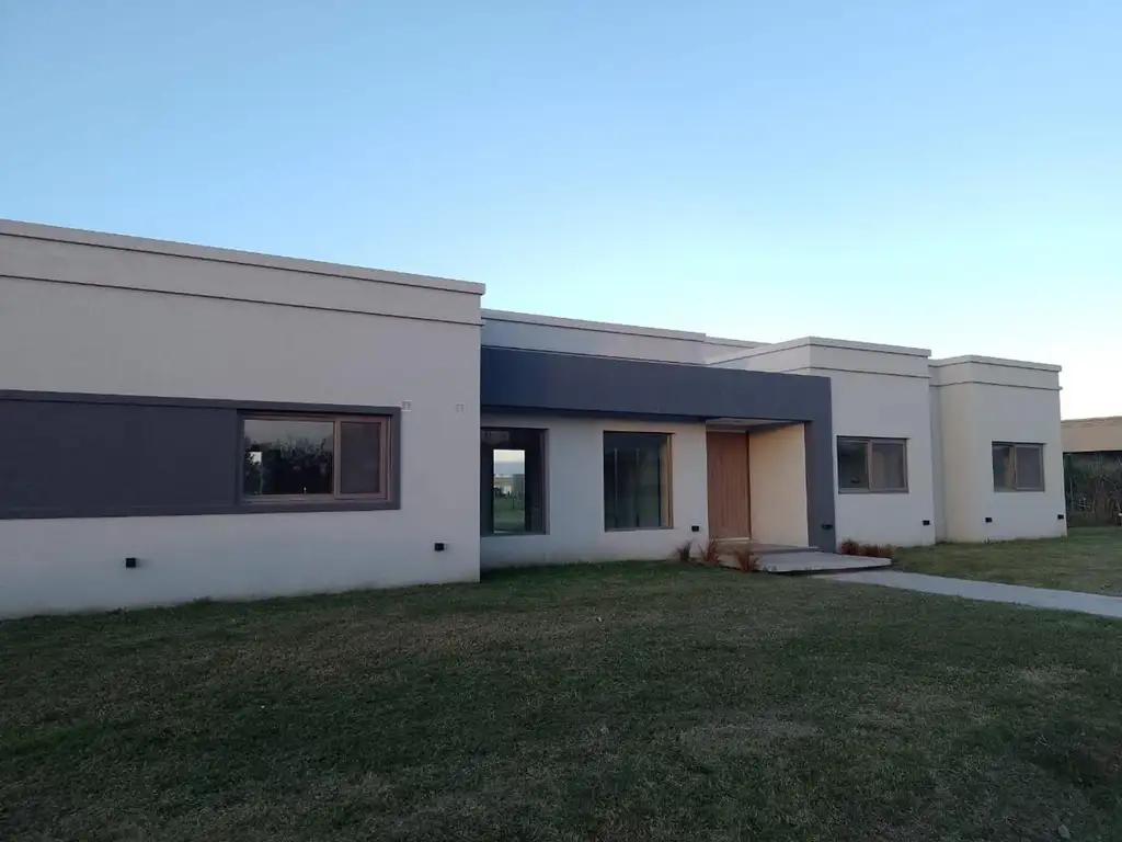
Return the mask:
[[604,433],[604,528],[670,525],[670,436]]

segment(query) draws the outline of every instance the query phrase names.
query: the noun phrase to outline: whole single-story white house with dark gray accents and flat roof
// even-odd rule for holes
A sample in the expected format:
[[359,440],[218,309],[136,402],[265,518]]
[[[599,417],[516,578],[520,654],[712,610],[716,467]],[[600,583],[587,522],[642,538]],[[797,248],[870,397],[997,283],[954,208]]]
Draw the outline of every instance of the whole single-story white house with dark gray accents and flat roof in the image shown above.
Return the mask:
[[0,614],[1065,533],[1056,366],[482,293],[0,222]]

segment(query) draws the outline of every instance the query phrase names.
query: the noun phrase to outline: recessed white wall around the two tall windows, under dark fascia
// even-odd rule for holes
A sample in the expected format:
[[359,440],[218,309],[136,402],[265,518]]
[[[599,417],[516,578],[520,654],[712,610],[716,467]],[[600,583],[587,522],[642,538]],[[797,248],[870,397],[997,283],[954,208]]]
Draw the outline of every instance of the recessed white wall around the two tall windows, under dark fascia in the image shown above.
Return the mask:
[[[546,431],[549,511],[548,534],[485,537],[481,541],[485,568],[668,558],[686,541],[706,539],[708,474],[703,424],[485,415],[482,425]],[[605,531],[604,433],[611,430],[671,434],[672,528]],[[698,525],[700,532],[692,532],[692,525]]]

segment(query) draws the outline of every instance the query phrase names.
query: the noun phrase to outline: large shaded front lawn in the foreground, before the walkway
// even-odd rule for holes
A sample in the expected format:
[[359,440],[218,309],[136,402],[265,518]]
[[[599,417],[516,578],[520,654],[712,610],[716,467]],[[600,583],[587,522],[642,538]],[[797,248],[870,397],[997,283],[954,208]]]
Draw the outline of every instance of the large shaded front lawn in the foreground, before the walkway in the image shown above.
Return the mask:
[[1122,623],[623,564],[0,623],[0,839],[1122,839]]

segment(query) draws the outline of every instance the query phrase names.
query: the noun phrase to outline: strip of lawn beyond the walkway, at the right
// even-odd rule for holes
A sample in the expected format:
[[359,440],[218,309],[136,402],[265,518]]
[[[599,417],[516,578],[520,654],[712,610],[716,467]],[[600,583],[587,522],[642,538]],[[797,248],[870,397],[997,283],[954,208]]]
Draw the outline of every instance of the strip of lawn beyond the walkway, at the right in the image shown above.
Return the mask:
[[1122,529],[1073,529],[1067,538],[940,543],[901,550],[909,573],[1122,596]]

